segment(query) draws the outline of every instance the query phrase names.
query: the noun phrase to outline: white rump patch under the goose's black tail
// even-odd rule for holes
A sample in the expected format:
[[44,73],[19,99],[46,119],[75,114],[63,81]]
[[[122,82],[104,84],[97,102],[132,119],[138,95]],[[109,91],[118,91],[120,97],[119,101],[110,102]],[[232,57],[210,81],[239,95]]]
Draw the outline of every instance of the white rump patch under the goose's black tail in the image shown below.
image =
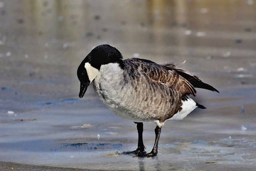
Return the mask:
[[[196,102],[193,99],[188,98],[188,100],[182,101],[183,105],[182,110],[178,111],[175,115],[173,115],[170,120],[182,120],[186,117],[190,112],[196,109]],[[169,119],[168,119],[169,120]]]

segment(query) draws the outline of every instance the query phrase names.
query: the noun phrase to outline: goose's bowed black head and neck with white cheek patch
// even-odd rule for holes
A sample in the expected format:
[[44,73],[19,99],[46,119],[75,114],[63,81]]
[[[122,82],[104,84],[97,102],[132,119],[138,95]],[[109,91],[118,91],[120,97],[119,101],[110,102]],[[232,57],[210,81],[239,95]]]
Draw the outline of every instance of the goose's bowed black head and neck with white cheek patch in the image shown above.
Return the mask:
[[79,97],[82,98],[89,84],[94,80],[102,65],[118,63],[124,67],[122,54],[114,47],[103,44],[94,48],[84,58],[77,70],[77,77],[80,81]]

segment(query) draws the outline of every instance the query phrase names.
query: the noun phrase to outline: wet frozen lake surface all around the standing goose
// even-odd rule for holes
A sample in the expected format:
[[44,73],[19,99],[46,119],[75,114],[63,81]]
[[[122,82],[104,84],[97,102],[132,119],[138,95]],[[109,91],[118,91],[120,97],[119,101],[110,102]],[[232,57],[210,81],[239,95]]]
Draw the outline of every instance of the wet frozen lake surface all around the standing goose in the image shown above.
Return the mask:
[[[15,2],[15,3],[14,3]],[[256,2],[0,0],[0,170],[255,170]],[[136,125],[76,70],[99,44],[124,58],[179,63],[220,93],[207,109],[166,121],[158,155],[137,147]],[[144,144],[154,145],[154,123]]]

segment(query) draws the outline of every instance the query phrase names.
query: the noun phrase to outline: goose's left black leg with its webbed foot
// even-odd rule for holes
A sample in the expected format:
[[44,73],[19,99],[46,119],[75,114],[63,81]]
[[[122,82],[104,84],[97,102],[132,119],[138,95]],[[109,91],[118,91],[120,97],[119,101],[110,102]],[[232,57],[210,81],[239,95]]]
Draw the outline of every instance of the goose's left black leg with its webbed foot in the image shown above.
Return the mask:
[[143,137],[142,137],[142,134],[143,134],[143,123],[142,122],[134,122],[137,124],[137,130],[138,130],[138,148],[134,151],[127,151],[127,152],[124,152],[126,154],[131,154],[131,153],[135,153],[135,154],[139,154],[139,155],[143,155],[143,154],[146,154],[146,147],[144,146],[144,143],[143,143]]

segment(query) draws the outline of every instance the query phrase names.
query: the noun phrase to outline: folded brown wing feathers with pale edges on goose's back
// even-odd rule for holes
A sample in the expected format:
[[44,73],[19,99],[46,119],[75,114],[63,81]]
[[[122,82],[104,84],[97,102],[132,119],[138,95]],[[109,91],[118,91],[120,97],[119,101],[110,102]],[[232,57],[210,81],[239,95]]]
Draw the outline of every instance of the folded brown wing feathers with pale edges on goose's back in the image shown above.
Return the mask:
[[169,89],[176,89],[182,96],[192,94],[196,95],[196,90],[188,80],[180,76],[178,72],[168,65],[159,65],[150,60],[131,58],[124,60],[133,66],[136,72],[144,72],[152,81],[164,84]]

